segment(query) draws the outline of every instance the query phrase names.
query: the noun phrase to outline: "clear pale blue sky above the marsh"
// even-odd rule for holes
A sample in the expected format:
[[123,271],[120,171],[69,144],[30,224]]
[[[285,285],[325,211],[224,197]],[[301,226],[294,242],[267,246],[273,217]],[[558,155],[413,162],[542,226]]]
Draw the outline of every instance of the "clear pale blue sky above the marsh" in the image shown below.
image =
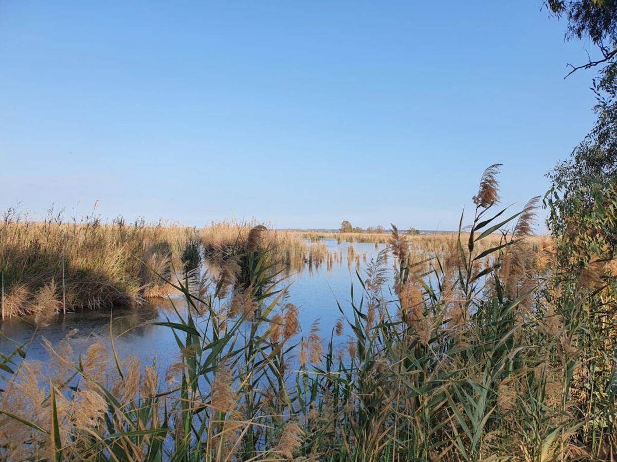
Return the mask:
[[589,132],[540,0],[0,2],[0,209],[278,228],[513,211]]

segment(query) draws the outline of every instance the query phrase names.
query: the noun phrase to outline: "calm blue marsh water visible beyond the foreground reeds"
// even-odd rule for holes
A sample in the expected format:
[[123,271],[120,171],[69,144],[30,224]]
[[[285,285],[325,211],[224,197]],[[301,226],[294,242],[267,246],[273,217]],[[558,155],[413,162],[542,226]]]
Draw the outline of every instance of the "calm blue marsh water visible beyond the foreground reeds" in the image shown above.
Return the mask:
[[[288,298],[283,303],[291,302],[299,308],[299,322],[302,331],[308,333],[315,320],[320,320],[321,336],[329,338],[341,312],[337,301],[344,312],[350,314],[350,290],[354,286],[354,298],[359,301],[362,296],[362,286],[356,275],[356,261],[347,262],[347,247],[354,246],[355,254],[360,256],[358,273],[364,279],[366,266],[371,258],[385,248],[384,244],[375,246],[373,243],[337,243],[334,239],[323,240],[331,251],[342,254],[342,259],[334,263],[331,270],[323,262],[317,268],[305,268],[302,272],[292,274],[285,280],[283,286],[289,285]],[[363,255],[366,254],[366,261]],[[388,261],[392,265],[392,259]],[[185,312],[181,299],[175,301],[181,313]],[[35,328],[21,320],[6,320],[2,325],[2,333],[6,338],[0,338],[0,352],[9,354],[15,345],[30,342],[26,351],[27,358],[46,362],[48,352],[41,344],[43,338],[56,346],[67,334],[72,333],[71,345],[77,357],[84,353],[88,346],[96,341],[102,341],[110,346],[109,331],[112,318],[114,345],[120,359],[130,354],[137,355],[141,360],[151,362],[157,358],[159,365],[165,366],[178,358],[178,346],[172,330],[165,326],[153,325],[153,322],[175,320],[176,314],[169,301],[159,301],[141,307],[114,310],[85,311],[59,315],[48,326]],[[350,334],[349,330],[347,334]]]

